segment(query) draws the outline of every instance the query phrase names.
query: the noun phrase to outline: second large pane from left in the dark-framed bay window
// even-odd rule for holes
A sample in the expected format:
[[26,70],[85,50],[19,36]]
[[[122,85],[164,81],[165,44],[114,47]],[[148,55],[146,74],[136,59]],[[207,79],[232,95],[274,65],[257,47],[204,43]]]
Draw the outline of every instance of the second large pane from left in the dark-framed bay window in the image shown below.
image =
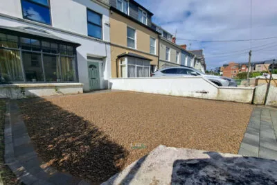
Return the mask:
[[42,82],[44,76],[42,72],[42,57],[36,53],[22,53],[26,80],[29,82]]

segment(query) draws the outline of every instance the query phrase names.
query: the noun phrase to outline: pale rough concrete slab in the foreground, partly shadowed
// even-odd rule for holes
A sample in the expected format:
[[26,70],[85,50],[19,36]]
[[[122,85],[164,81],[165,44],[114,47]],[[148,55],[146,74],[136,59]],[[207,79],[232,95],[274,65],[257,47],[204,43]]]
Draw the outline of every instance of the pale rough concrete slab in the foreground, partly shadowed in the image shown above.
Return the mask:
[[277,161],[159,146],[107,184],[276,184]]

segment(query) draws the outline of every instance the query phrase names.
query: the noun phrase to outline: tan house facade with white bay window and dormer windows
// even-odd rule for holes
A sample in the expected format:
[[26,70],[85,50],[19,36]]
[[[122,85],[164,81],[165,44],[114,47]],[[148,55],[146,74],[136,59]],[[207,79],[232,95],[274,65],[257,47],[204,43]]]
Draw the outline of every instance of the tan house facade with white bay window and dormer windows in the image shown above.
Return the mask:
[[159,33],[152,12],[135,1],[110,0],[111,77],[150,77],[157,70]]

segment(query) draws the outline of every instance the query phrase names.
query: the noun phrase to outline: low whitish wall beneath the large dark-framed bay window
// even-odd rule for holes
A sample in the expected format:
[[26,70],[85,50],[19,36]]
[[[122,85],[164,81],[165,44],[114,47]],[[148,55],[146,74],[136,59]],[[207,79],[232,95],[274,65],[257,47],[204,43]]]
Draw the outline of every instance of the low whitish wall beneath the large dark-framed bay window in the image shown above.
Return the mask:
[[82,94],[81,83],[51,84],[11,84],[0,85],[0,98],[33,98],[43,96],[59,96],[66,94]]

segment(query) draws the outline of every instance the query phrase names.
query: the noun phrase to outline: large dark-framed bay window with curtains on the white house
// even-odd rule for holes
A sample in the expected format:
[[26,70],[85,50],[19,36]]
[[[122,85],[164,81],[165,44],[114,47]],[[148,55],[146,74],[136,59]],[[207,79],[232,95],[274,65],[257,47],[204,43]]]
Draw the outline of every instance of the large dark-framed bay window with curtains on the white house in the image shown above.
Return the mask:
[[0,78],[3,82],[76,82],[75,55],[75,46],[0,33]]

